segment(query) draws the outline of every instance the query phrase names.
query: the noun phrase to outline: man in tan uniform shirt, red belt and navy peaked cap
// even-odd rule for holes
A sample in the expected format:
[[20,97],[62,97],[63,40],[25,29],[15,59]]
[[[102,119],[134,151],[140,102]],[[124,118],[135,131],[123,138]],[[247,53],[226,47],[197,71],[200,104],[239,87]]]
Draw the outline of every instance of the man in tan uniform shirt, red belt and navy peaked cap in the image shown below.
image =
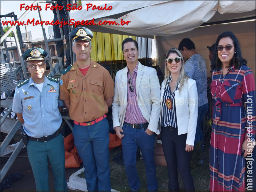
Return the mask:
[[90,58],[92,37],[92,31],[84,27],[70,32],[76,62],[62,72],[60,99],[74,120],[73,136],[87,190],[111,191],[106,113],[113,101],[114,82],[108,70]]

